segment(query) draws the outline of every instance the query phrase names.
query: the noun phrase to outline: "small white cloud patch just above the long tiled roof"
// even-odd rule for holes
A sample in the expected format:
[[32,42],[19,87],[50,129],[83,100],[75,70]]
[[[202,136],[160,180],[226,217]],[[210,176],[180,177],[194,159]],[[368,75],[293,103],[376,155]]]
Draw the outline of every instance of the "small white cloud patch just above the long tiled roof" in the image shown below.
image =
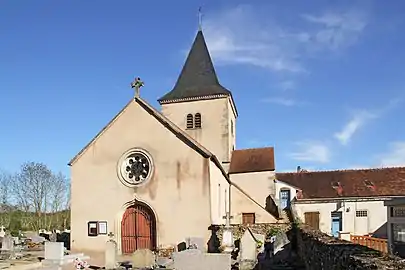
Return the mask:
[[322,142],[304,141],[296,143],[296,146],[298,150],[289,154],[292,159],[317,163],[330,161],[330,149]]

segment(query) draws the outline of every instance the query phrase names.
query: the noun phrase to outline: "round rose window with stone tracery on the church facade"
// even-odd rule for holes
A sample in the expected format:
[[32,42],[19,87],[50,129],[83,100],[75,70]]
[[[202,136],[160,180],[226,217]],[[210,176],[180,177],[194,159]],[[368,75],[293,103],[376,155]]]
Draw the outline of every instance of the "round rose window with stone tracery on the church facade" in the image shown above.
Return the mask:
[[121,179],[125,181],[124,184],[140,185],[152,175],[152,159],[142,150],[132,150],[121,158],[119,170]]

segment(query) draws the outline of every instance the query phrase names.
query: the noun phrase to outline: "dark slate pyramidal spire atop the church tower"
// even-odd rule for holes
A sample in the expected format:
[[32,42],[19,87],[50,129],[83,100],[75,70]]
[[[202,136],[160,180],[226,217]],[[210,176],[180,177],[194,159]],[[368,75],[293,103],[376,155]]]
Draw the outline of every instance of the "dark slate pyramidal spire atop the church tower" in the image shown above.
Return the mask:
[[162,104],[230,95],[231,92],[219,84],[204,35],[199,30],[176,85],[158,101]]

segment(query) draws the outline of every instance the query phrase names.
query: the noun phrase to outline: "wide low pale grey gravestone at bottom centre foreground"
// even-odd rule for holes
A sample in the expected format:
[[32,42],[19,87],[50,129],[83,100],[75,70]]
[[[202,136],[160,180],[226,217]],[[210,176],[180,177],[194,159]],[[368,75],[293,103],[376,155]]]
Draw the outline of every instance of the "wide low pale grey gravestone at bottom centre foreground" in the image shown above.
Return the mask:
[[229,270],[230,254],[209,254],[198,249],[173,253],[173,267],[176,270]]

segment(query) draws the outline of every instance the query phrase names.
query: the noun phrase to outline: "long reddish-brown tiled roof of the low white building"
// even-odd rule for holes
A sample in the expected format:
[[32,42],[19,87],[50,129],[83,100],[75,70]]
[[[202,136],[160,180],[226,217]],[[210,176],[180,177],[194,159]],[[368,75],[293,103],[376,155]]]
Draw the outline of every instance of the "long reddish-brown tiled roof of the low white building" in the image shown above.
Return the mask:
[[405,167],[277,173],[276,179],[301,189],[303,199],[405,194]]

